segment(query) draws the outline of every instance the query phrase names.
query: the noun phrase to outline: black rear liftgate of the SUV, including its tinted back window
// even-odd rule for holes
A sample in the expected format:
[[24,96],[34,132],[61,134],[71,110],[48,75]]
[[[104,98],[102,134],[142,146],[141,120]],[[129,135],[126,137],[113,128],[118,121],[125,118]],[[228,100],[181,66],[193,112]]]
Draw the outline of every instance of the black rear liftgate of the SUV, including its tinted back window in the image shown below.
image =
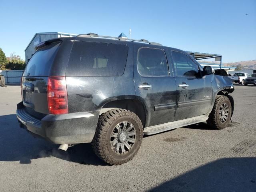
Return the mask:
[[41,43],[41,48],[29,60],[22,75],[21,94],[25,110],[39,119],[46,114],[51,114],[48,105],[48,84],[52,79],[50,76],[65,80],[66,68],[60,68],[60,72],[56,72],[56,66],[54,66],[60,62],[58,52],[60,52],[61,44],[60,39]]

